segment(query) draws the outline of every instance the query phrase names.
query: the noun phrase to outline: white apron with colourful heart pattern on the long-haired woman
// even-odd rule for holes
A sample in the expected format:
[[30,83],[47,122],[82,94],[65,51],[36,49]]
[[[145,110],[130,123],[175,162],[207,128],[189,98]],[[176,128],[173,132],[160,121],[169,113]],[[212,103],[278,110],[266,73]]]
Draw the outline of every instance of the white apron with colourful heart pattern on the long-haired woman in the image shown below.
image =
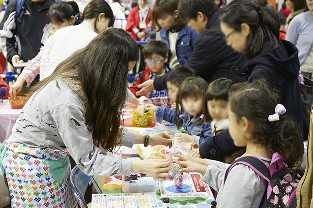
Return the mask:
[[78,207],[70,184],[70,166],[61,183],[49,172],[49,161],[69,157],[67,150],[12,142],[7,142],[5,147],[5,173],[12,208]]

